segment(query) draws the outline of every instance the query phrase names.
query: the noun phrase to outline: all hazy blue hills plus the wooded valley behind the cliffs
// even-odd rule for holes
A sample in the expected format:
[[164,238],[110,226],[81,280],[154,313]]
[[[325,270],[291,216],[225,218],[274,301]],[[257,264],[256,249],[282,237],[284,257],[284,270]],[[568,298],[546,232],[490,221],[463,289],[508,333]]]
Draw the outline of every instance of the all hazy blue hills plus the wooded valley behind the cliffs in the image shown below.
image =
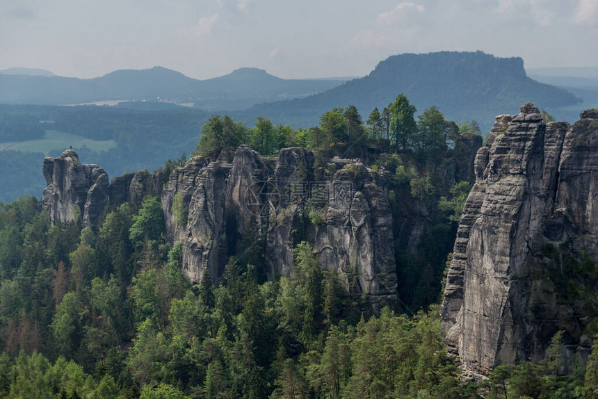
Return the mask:
[[[579,113],[575,105],[579,99],[529,79],[520,58],[495,58],[481,52],[392,56],[368,76],[340,86],[337,80],[280,79],[255,68],[204,81],[161,67],[119,70],[87,80],[0,74],[0,81],[4,104],[138,100],[117,107],[0,105],[0,163],[6,170],[0,177],[0,199],[4,201],[19,193],[38,195],[44,184],[35,165],[40,153],[56,156],[72,146],[88,162],[104,165],[111,177],[151,170],[168,158],[193,151],[198,131],[213,113],[227,113],[246,125],[262,116],[293,129],[307,128],[316,126],[332,108],[351,104],[364,118],[374,108],[385,117],[384,108],[401,92],[417,114],[437,106],[458,124],[477,120],[482,131],[490,129],[496,114],[513,112],[530,100],[559,119],[572,121]],[[317,92],[321,93],[314,95]],[[279,101],[295,97],[305,98]],[[246,109],[257,103],[267,104]],[[565,112],[563,106],[570,109],[565,107]],[[31,178],[9,178],[14,175]]]

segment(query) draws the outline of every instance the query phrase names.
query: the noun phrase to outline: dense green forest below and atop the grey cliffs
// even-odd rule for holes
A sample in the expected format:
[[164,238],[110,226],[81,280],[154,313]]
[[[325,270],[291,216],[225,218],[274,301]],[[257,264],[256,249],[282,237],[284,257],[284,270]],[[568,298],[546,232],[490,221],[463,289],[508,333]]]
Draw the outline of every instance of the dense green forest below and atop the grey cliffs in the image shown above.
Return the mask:
[[[395,254],[399,300],[380,314],[362,311],[365,298],[322,270],[306,242],[293,250],[291,277],[266,281],[259,229],[237,243],[223,277],[207,273],[191,284],[181,244],[163,240],[156,197],[106,207],[97,232],[82,228],[81,217],[51,225],[35,197],[0,204],[0,396],[597,397],[598,345],[587,367],[578,361],[560,375],[562,334],[540,364],[460,380],[442,343],[438,301],[471,181],[442,175],[480,131],[475,121],[446,120],[435,106],[415,112],[398,95],[365,122],[348,106],[311,129],[213,116],[197,143],[210,159],[248,142],[264,156],[299,146],[314,149],[320,164],[342,156],[386,170],[395,220],[425,209],[429,224],[416,252],[398,246],[405,248]],[[158,172],[167,179],[181,162]],[[320,222],[316,216],[307,220]]]

